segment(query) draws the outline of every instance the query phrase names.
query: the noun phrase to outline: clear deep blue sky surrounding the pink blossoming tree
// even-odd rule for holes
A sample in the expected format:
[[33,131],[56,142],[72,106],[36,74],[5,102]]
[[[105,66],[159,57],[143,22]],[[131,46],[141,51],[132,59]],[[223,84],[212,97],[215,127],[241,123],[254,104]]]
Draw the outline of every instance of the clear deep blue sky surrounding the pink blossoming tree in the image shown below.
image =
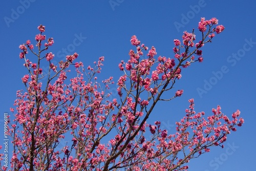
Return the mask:
[[[232,112],[239,109],[245,123],[228,136],[224,144],[226,147],[213,147],[210,153],[191,160],[189,170],[254,169],[254,1],[22,0],[4,1],[0,8],[1,115],[9,112],[16,91],[24,89],[21,77],[27,71],[23,60],[18,57],[18,46],[27,39],[33,43],[40,24],[46,26],[47,37],[54,38],[51,51],[57,59],[61,60],[65,53],[77,52],[78,59],[88,66],[104,56],[102,78],[112,75],[117,80],[122,74],[118,71],[118,63],[127,60],[129,50],[133,48],[130,42],[132,35],[148,47],[155,46],[157,56],[173,58],[173,39],[180,39],[184,30],[191,32],[193,28],[197,29],[201,17],[218,18],[225,31],[203,47],[203,63],[194,63],[182,71],[182,79],[177,82],[176,88],[183,89],[184,94],[160,103],[150,120],[160,120],[169,133],[174,132],[173,123],[183,117],[190,98],[195,99],[197,112],[211,114],[211,109],[220,104],[222,112],[231,117]],[[199,93],[199,90],[204,91]],[[2,130],[3,118],[0,118],[0,123]],[[2,142],[2,132],[0,136]]]

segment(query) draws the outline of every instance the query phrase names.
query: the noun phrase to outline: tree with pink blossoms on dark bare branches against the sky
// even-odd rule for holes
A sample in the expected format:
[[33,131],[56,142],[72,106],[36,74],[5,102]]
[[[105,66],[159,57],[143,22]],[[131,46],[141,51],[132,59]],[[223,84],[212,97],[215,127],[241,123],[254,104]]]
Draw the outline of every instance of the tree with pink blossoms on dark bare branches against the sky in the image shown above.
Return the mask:
[[[45,26],[40,25],[35,48],[30,40],[19,46],[29,74],[22,78],[26,91],[17,91],[16,109],[11,108],[15,116],[9,127],[12,170],[185,170],[190,159],[209,152],[210,146],[223,147],[227,135],[244,122],[238,119],[239,111],[232,120],[220,106],[212,109],[212,115],[196,113],[190,99],[184,117],[176,122],[176,132],[161,130],[160,121],[146,122],[159,101],[182,95],[183,90],[178,90],[172,98],[162,98],[173,91],[182,68],[203,61],[201,48],[224,27],[216,18],[202,18],[198,29],[202,34],[198,41],[194,30],[185,31],[182,42],[174,40],[174,59],[156,58],[154,47],[148,50],[132,36],[136,50],[130,50],[130,59],[119,64],[123,75],[117,81],[118,98],[109,100],[112,94],[106,90],[113,77],[101,83],[96,77],[104,57],[94,67],[83,68],[82,62],[75,62],[78,54],[74,53],[55,66],[54,54],[47,53],[53,38],[43,46]],[[35,61],[28,58],[29,51],[37,57]],[[142,58],[144,52],[146,58]],[[47,73],[40,68],[45,62]],[[76,76],[68,79],[73,67]],[[63,140],[67,141],[64,146]]]

